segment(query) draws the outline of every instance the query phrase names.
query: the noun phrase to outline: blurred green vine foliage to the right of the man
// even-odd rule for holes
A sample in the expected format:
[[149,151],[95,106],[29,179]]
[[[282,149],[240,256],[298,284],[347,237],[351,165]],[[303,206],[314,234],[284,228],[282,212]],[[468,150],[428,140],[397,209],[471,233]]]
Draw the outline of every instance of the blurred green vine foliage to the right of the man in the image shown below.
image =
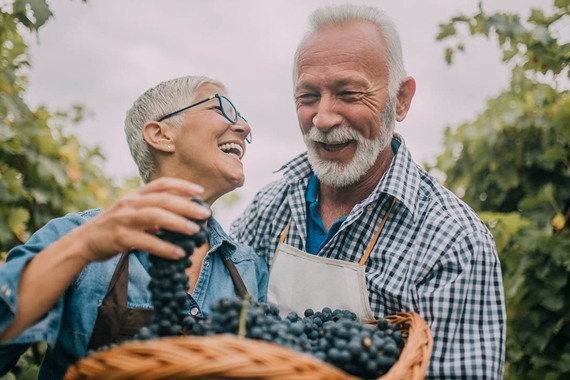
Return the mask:
[[493,233],[507,305],[507,379],[570,378],[570,1],[440,25],[445,58],[469,36],[498,42],[510,85],[475,120],[445,132],[432,171]]

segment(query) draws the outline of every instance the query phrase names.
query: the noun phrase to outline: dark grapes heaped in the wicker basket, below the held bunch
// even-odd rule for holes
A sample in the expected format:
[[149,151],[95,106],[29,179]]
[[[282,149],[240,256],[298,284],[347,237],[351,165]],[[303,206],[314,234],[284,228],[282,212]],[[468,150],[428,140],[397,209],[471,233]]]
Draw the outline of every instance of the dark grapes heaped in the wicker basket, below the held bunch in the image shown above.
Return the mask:
[[182,328],[188,335],[230,333],[277,343],[361,378],[388,372],[404,346],[396,325],[385,319],[365,325],[350,311],[327,307],[307,309],[304,317],[291,312],[282,319],[275,305],[238,298],[214,303],[206,319],[187,316]]

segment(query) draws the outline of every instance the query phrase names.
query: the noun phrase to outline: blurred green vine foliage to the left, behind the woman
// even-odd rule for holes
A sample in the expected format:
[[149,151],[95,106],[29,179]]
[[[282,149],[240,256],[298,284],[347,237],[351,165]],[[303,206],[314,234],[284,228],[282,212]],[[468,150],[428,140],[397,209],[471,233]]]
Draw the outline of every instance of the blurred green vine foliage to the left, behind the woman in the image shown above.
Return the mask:
[[[31,66],[26,38],[37,36],[51,17],[45,0],[0,6],[0,263],[50,219],[106,207],[140,184],[126,179],[115,186],[101,170],[99,149],[65,133],[81,123],[82,106],[49,111],[24,101]],[[45,349],[33,345],[2,379],[37,379]]]

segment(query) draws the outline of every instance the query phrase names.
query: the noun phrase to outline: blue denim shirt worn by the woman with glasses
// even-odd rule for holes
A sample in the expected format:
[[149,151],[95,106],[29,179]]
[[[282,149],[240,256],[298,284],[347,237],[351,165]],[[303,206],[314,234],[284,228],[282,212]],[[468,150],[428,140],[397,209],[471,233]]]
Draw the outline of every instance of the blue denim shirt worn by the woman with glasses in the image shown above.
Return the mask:
[[[18,283],[26,264],[48,245],[101,212],[101,209],[93,209],[54,219],[33,234],[26,244],[10,251],[6,263],[0,265],[0,332],[14,320],[18,306]],[[220,255],[234,262],[252,298],[265,302],[268,280],[265,262],[250,247],[234,242],[214,218],[208,220],[208,231],[210,251],[202,262],[193,294],[188,294],[190,307],[186,312],[207,316],[213,302],[224,297],[235,297],[232,279]],[[67,368],[86,355],[97,319],[97,308],[105,297],[119,258],[120,255],[116,255],[105,262],[87,265],[42,319],[16,339],[1,344],[0,375],[15,365],[31,343],[45,341],[48,350],[39,378],[63,378]],[[150,281],[148,268],[147,252],[129,255],[127,307],[152,308],[147,287]]]

